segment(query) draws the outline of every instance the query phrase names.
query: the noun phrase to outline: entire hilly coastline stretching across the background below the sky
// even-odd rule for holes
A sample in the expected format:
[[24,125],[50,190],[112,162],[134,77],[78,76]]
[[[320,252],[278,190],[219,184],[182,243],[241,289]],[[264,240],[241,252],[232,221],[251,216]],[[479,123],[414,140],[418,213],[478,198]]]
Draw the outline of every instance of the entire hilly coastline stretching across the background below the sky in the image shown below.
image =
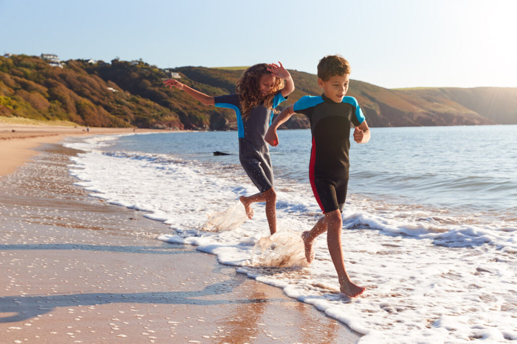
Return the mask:
[[[232,93],[242,70],[181,67],[159,69],[143,61],[68,60],[63,69],[34,56],[0,57],[0,116],[66,120],[90,126],[236,128],[231,110],[207,107],[184,92],[163,87],[177,72],[181,82],[210,95]],[[290,71],[296,90],[281,104],[321,93],[316,75]],[[352,80],[370,126],[517,124],[517,88],[385,89]],[[281,107],[279,107],[281,109]],[[285,124],[306,128],[301,115]]]

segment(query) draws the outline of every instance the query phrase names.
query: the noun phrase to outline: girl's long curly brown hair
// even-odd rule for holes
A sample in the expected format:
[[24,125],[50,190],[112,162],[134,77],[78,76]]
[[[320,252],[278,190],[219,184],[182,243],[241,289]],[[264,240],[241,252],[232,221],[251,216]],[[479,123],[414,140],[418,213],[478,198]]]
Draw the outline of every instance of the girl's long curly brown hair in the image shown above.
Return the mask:
[[262,94],[258,82],[263,74],[271,74],[267,68],[268,65],[266,63],[252,65],[237,81],[235,93],[239,95],[242,120],[246,121],[250,116],[251,110],[261,103],[272,110],[273,98],[284,87],[284,80],[275,78],[275,85],[273,85],[269,93],[266,95]]

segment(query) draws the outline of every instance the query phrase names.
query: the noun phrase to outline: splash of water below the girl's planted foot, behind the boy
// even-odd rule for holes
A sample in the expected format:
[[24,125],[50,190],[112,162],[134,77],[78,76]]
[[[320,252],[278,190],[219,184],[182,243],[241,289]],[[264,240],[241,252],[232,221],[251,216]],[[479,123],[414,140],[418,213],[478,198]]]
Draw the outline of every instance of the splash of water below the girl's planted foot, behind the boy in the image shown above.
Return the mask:
[[251,253],[251,265],[262,267],[308,267],[300,233],[280,230],[258,239]]

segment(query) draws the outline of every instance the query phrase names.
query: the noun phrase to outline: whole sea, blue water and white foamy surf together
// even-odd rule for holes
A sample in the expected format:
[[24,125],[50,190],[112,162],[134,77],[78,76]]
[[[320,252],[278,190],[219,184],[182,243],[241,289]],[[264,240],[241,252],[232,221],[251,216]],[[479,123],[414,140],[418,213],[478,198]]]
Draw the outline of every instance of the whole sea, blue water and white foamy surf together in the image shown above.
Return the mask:
[[[238,162],[236,132],[92,137],[69,172],[91,195],[169,224],[158,239],[196,245],[364,334],[363,342],[517,340],[517,126],[372,128],[352,142],[345,266],[367,288],[342,297],[326,247],[300,259],[321,214],[308,182],[310,130],[270,148],[278,233]],[[214,156],[221,151],[230,155]]]

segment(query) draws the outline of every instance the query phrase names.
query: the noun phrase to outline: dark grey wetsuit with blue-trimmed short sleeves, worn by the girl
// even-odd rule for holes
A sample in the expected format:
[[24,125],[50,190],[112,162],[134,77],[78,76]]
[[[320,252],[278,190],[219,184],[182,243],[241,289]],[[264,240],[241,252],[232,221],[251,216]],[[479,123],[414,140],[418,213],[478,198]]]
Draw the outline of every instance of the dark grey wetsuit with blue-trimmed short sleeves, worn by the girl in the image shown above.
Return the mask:
[[[286,98],[279,91],[273,98],[272,108],[276,108],[285,100]],[[235,110],[240,165],[260,192],[269,190],[273,187],[273,169],[269,147],[264,141],[264,136],[271,125],[273,111],[261,104],[250,111],[247,120],[243,120],[238,94],[216,96],[214,101],[216,107]]]

